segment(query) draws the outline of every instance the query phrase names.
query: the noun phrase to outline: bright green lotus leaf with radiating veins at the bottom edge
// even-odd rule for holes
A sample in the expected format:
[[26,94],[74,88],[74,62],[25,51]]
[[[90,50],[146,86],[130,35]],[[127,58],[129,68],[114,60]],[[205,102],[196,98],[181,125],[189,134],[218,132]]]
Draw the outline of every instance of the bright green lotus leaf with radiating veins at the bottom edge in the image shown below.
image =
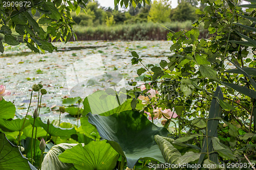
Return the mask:
[[91,141],[84,147],[79,143],[59,155],[59,160],[73,163],[78,170],[105,170],[114,169],[118,156],[119,154],[106,140],[101,140]]

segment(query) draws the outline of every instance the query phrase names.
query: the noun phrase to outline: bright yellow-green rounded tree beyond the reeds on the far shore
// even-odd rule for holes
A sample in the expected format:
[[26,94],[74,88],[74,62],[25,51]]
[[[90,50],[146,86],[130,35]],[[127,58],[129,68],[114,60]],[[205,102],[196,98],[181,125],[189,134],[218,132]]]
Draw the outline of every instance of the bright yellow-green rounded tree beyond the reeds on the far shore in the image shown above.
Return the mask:
[[154,1],[150,12],[148,13],[148,21],[167,22],[170,16],[170,4],[166,0]]

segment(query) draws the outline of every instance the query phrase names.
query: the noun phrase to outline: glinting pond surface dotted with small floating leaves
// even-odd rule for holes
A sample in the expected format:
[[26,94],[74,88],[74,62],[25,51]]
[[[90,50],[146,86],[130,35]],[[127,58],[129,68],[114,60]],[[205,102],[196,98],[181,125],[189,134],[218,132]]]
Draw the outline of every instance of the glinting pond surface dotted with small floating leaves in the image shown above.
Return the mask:
[[[137,69],[142,65],[132,65],[130,51],[136,51],[143,59],[143,64],[159,63],[170,56],[170,41],[77,41],[53,43],[58,52],[36,54],[27,46],[5,45],[5,52],[0,56],[0,84],[11,91],[5,100],[16,106],[16,116],[25,115],[29,105],[31,87],[42,84],[48,91],[43,95],[40,117],[44,120],[58,119],[59,112],[54,111],[61,106],[62,100],[77,96],[82,99],[93,91],[104,89],[104,79],[100,83],[88,81],[100,77],[104,73],[121,74],[123,84],[131,88],[127,82],[140,81]],[[93,79],[92,79],[93,80]],[[90,88],[73,88],[80,82],[87,81]],[[142,83],[142,81],[141,81]],[[74,90],[75,89],[75,90]],[[76,91],[78,90],[78,91]],[[37,105],[37,93],[33,93],[29,114],[32,115]],[[52,109],[51,109],[52,108]],[[75,124],[76,118],[67,113],[61,115],[61,121]]]

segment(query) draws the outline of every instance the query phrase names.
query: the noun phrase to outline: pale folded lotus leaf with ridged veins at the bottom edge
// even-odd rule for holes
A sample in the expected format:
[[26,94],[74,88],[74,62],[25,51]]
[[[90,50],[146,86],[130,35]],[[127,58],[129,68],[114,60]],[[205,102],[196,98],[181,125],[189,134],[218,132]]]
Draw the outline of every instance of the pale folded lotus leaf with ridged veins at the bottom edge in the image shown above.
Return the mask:
[[58,156],[62,154],[65,150],[73,148],[76,143],[61,143],[54,145],[50,151],[46,154],[44,161],[42,161],[41,170],[53,170],[61,169],[68,170],[72,166],[72,163],[63,163],[59,160]]

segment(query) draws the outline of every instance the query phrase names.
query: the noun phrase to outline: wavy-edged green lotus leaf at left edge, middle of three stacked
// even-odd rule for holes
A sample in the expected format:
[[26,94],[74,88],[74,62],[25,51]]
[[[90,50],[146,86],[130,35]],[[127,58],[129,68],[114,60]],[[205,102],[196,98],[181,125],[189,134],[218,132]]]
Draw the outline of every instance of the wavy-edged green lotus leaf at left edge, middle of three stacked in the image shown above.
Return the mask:
[[[7,131],[7,132],[20,131],[22,130],[22,125],[24,123],[24,120],[25,118],[23,119],[17,118],[17,119],[11,119],[11,120],[0,118],[0,128],[3,131]],[[29,125],[30,125],[30,122],[28,119],[26,119],[23,128],[26,128]]]

